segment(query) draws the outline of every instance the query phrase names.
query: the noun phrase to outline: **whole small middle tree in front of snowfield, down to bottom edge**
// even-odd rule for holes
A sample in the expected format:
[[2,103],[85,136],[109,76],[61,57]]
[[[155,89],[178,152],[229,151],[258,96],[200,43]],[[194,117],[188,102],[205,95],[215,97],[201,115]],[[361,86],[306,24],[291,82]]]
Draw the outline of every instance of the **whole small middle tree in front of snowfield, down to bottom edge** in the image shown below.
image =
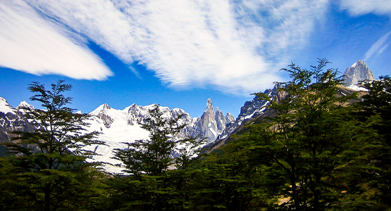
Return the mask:
[[[186,168],[199,151],[202,140],[184,137],[186,124],[182,115],[163,117],[159,105],[149,110],[142,125],[149,139],[125,143],[127,148],[116,148],[115,159],[123,162],[127,177],[113,179],[116,193],[113,200],[118,210],[185,210],[185,189],[188,181]],[[173,157],[173,152],[178,158]],[[168,167],[177,170],[168,171]],[[121,200],[123,199],[123,200]]]

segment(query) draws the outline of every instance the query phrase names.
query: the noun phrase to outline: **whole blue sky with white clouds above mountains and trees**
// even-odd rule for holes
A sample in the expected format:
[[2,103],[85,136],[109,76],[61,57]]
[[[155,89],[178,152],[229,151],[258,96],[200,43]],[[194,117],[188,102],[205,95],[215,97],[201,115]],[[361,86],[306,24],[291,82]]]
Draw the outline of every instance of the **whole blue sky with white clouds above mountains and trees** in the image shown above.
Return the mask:
[[16,107],[30,82],[73,85],[70,107],[159,103],[237,117],[280,71],[326,58],[391,75],[391,0],[0,0],[0,96]]

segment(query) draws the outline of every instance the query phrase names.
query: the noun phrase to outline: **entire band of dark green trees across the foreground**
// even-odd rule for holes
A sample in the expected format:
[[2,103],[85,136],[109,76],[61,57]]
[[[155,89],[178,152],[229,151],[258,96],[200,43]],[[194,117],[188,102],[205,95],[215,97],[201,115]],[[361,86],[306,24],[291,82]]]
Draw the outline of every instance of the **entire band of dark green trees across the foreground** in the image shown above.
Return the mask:
[[114,151],[121,177],[86,161],[85,146],[104,143],[83,132],[88,115],[66,107],[71,86],[34,82],[31,100],[45,110],[25,108],[39,129],[5,143],[0,210],[391,210],[391,79],[345,95],[327,63],[292,63],[279,97],[256,94],[273,115],[197,158],[201,142],[178,136],[181,117],[156,106],[142,124],[149,139]]

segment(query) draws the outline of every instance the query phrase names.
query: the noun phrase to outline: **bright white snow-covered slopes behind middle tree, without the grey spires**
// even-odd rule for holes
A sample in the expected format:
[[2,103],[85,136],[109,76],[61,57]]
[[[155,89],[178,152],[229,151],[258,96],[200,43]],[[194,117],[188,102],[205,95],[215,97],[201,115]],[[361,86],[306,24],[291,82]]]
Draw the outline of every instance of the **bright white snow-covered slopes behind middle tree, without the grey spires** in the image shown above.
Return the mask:
[[[107,104],[99,106],[97,109],[89,113],[92,117],[87,121],[90,125],[87,127],[88,132],[101,132],[99,141],[105,141],[106,146],[90,146],[90,150],[95,151],[99,155],[94,156],[94,160],[101,162],[109,162],[111,164],[120,164],[119,160],[113,159],[113,150],[115,148],[127,147],[123,142],[132,142],[139,139],[148,139],[149,132],[142,129],[142,124],[149,116],[149,110],[155,105],[137,106],[132,104],[123,110],[111,108]],[[175,108],[170,110],[168,107],[160,107],[163,112],[163,117],[178,117],[184,115],[181,121],[189,124],[182,132],[181,136],[191,134],[191,127],[194,127],[194,121],[184,110]],[[190,131],[190,132],[189,132]],[[106,165],[106,170],[119,173],[122,168]]]

